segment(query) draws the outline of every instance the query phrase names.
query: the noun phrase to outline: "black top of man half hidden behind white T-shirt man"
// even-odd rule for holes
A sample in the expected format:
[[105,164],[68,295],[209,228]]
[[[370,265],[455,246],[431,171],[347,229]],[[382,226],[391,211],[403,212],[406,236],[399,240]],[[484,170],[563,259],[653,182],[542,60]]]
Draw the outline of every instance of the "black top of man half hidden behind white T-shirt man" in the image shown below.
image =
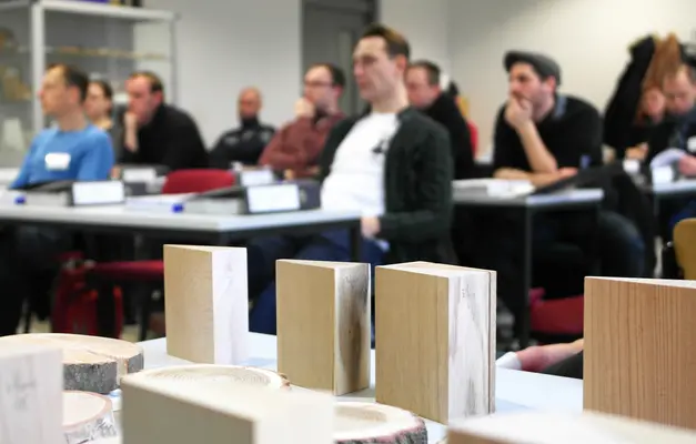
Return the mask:
[[474,175],[474,147],[466,120],[450,95],[442,93],[425,110],[425,115],[445,127],[450,133],[454,179],[471,179]]

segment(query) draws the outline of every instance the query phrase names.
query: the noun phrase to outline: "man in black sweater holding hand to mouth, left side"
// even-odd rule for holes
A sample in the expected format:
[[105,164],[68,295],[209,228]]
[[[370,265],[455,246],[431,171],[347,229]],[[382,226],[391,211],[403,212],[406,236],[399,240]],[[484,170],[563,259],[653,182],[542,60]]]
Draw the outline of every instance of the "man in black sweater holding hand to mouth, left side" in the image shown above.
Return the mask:
[[159,77],[143,71],[125,83],[121,163],[164,165],[171,171],[208,168],[208,150],[199,128],[184,111],[164,103]]

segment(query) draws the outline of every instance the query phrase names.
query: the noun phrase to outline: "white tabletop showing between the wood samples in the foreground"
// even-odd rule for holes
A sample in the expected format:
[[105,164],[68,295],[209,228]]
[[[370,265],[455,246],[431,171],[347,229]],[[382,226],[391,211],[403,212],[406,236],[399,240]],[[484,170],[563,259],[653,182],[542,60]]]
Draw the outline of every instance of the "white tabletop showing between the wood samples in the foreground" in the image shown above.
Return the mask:
[[[269,370],[276,370],[275,336],[250,333],[253,356],[242,363]],[[152,340],[139,343],[145,355],[145,369],[157,369],[190,362],[167,354],[167,340]],[[583,410],[583,382],[566,377],[497,369],[495,403],[497,412],[543,410],[551,412],[577,413]],[[372,352],[371,389],[339,396],[339,401],[374,402],[374,351]],[[437,443],[446,435],[442,424],[426,421],[428,442]]]

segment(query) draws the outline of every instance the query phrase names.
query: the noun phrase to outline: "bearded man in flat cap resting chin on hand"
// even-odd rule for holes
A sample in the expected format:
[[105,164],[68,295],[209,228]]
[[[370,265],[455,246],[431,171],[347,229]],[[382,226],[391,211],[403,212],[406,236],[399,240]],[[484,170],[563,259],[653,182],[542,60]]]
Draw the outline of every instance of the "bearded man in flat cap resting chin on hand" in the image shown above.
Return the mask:
[[[510,99],[495,125],[494,176],[545,185],[574,175],[578,168],[601,164],[599,114],[591,104],[557,92],[561,70],[556,62],[542,54],[508,52],[504,64]],[[520,231],[511,230],[515,221],[487,219],[487,235],[477,251],[481,266],[498,271],[498,294],[516,314],[524,310],[526,295],[516,290],[524,259],[517,254]],[[640,234],[617,213],[601,211],[596,223],[592,212],[554,212],[538,214],[533,223],[534,251],[569,243],[579,246],[585,258],[598,255],[604,275],[643,275]]]

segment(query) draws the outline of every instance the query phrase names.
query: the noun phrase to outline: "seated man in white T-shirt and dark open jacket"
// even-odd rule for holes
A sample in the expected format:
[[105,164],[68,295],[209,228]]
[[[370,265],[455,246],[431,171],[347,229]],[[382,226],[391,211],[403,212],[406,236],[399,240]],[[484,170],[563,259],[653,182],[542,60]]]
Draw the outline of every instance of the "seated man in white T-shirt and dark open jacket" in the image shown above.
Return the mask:
[[[403,80],[408,54],[396,31],[382,26],[365,31],[353,61],[371,112],[339,123],[320,162],[322,206],[362,213],[362,261],[373,266],[453,261],[450,142],[442,127],[408,108]],[[273,279],[278,259],[351,260],[343,231],[259,239],[248,249],[252,285],[254,278]],[[256,299],[250,331],[275,334],[275,283]]]

